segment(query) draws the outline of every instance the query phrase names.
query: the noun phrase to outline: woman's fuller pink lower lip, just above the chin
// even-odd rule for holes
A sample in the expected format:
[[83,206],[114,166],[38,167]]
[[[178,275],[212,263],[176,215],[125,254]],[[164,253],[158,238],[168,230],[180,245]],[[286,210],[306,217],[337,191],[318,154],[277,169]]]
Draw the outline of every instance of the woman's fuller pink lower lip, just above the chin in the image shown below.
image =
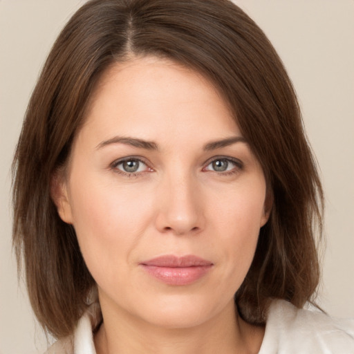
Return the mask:
[[188,285],[201,279],[212,265],[198,265],[192,267],[158,267],[156,265],[145,265],[142,267],[153,277],[168,285]]

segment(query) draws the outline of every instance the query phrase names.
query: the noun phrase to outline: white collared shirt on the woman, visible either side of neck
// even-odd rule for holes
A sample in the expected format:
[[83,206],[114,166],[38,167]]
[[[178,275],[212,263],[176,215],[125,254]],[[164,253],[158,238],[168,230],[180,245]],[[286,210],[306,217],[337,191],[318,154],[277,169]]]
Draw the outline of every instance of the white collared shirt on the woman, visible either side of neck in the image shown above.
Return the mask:
[[[91,305],[75,333],[57,341],[45,354],[96,354],[93,328],[101,320],[100,305]],[[354,319],[333,319],[274,300],[259,354],[354,354]]]

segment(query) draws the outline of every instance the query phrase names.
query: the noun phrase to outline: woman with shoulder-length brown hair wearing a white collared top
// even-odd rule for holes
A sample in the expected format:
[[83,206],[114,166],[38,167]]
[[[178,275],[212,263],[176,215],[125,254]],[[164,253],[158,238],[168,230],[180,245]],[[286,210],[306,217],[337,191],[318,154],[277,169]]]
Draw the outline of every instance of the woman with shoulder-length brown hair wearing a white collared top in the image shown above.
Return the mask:
[[351,353],[301,308],[322,187],[286,71],[229,1],[89,1],[15,156],[14,243],[48,353]]

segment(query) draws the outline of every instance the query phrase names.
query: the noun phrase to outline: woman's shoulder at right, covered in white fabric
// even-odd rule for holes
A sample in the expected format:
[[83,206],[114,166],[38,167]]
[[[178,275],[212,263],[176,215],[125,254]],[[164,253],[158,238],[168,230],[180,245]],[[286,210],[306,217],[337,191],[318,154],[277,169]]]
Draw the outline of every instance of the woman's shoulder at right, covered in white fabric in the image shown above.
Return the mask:
[[259,354],[354,353],[354,319],[334,319],[317,310],[274,300]]

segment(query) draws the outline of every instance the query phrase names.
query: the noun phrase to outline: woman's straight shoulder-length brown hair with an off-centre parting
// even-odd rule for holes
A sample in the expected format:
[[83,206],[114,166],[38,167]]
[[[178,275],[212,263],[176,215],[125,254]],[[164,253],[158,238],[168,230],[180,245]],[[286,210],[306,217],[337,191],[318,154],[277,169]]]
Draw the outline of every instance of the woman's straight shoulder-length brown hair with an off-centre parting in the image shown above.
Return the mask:
[[129,55],[169,58],[208,77],[261,162],[273,207],[235,295],[241,316],[262,324],[271,298],[303,306],[319,280],[322,187],[295,91],[268,39],[227,0],[93,0],[48,56],[13,163],[13,241],[41,325],[55,337],[71,333],[95,284],[75,230],[50,198],[50,181],[65,166],[100,75]]

